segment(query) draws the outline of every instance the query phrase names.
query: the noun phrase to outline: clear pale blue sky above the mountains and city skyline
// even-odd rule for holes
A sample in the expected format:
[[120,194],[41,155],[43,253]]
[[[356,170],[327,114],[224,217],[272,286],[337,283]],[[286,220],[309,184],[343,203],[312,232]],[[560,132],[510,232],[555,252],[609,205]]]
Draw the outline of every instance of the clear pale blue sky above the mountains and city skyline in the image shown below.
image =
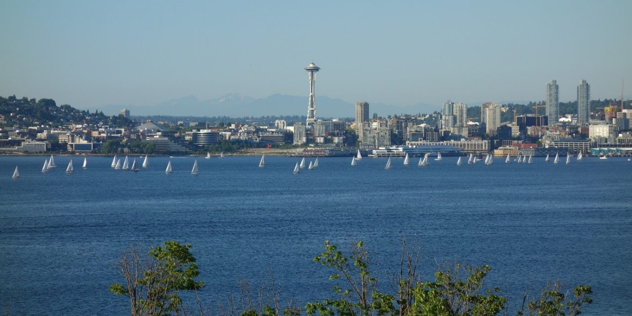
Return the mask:
[[[0,1],[0,95],[94,109],[194,95],[348,102],[632,95],[632,1]],[[247,115],[247,113],[245,113]]]

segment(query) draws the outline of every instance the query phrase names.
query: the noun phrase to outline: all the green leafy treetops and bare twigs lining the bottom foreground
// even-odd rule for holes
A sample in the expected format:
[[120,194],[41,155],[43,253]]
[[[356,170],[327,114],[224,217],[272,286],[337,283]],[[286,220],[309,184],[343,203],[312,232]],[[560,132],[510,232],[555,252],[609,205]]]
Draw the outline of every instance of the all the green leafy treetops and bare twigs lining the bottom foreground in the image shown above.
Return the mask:
[[[123,254],[118,266],[125,276],[126,286],[114,283],[110,290],[116,295],[130,298],[131,315],[187,315],[182,308],[178,291],[196,291],[204,287],[198,276],[195,258],[188,252],[191,245],[166,241],[164,248],[150,248],[149,260],[143,262],[135,250]],[[494,316],[508,315],[507,298],[499,295],[500,289],[486,286],[484,279],[491,272],[488,265],[466,267],[460,264],[453,269],[437,270],[434,281],[422,282],[416,272],[419,249],[408,250],[403,240],[399,275],[393,293],[380,291],[377,277],[372,274],[372,257],[362,241],[344,255],[325,241],[325,249],[314,261],[334,272],[329,279],[335,283],[333,297],[305,305],[308,316]],[[290,301],[282,307],[279,288],[264,286],[253,302],[248,283],[240,282],[240,304],[229,296],[228,308],[217,307],[219,316],[298,316],[301,308]],[[529,301],[525,294],[518,316],[579,315],[583,307],[592,304],[592,289],[578,285],[573,291],[564,291],[559,281],[547,286],[540,296]],[[200,305],[200,315],[205,310]],[[241,305],[241,308],[238,307]]]

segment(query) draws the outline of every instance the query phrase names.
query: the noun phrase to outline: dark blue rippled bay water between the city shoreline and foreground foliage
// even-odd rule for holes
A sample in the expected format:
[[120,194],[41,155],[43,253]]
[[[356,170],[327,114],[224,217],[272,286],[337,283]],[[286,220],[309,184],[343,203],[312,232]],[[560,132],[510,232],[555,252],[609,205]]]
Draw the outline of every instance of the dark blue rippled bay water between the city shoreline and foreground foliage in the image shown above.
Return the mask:
[[[107,286],[122,281],[114,261],[129,245],[191,243],[200,296],[226,302],[245,277],[270,272],[284,298],[304,305],[331,297],[331,271],[312,262],[324,240],[363,240],[382,277],[398,270],[401,236],[422,246],[420,270],[489,264],[489,284],[510,310],[526,286],[590,284],[585,315],[632,315],[632,162],[585,158],[571,164],[455,166],[444,157],[417,167],[393,159],[321,158],[293,174],[298,159],[150,157],[138,173],[115,171],[111,157],[70,157],[40,173],[44,157],[0,157],[0,305],[10,315],[126,315]],[[20,167],[21,178],[11,179]],[[389,289],[386,279],[380,284]],[[533,293],[537,294],[537,293]]]

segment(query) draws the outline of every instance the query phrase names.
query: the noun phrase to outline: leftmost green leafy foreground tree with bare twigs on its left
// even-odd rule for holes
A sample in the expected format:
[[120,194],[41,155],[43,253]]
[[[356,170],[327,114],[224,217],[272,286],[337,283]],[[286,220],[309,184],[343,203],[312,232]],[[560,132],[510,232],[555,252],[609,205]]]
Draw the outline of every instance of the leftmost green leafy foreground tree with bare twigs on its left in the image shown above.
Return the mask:
[[178,241],[165,241],[164,246],[150,247],[149,257],[130,248],[116,263],[125,286],[112,283],[109,290],[130,298],[132,316],[177,314],[182,305],[179,291],[204,288],[202,281],[194,279],[200,272],[190,248]]

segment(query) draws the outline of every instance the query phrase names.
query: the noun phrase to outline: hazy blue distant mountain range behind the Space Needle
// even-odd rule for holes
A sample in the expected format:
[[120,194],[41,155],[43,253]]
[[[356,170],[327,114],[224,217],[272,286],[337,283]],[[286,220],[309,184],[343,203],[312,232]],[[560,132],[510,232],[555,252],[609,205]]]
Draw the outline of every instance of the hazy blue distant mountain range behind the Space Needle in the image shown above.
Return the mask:
[[[412,106],[393,106],[369,102],[369,113],[380,116],[392,114],[416,114],[440,111],[440,106],[413,104]],[[168,115],[168,116],[268,116],[268,115],[306,115],[308,97],[273,94],[262,99],[253,99],[241,94],[227,94],[210,100],[199,100],[190,95],[169,100],[155,106],[108,105],[99,107],[106,115],[119,114],[121,109],[130,110],[132,116]],[[316,97],[317,118],[352,118],[355,116],[355,103],[333,99],[324,95]]]

